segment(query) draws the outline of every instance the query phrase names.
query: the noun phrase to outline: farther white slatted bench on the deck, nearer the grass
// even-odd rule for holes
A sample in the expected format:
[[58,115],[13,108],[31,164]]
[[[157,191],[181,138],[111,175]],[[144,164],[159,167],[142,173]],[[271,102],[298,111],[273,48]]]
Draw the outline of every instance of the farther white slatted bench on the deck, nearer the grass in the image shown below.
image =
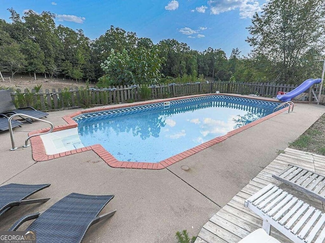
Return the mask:
[[315,172],[288,165],[280,174],[272,177],[325,203],[325,178]]

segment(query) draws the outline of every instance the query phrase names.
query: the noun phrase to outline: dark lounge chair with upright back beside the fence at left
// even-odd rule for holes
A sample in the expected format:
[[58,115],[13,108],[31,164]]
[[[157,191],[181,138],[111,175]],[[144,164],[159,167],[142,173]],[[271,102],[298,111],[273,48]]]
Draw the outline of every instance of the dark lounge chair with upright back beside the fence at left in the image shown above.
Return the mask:
[[[48,115],[48,113],[39,111],[31,106],[16,109],[16,106],[11,99],[11,94],[9,90],[0,90],[0,113],[9,114],[9,115],[21,113],[36,118],[42,118]],[[26,119],[22,116],[21,118],[31,123],[29,119]]]

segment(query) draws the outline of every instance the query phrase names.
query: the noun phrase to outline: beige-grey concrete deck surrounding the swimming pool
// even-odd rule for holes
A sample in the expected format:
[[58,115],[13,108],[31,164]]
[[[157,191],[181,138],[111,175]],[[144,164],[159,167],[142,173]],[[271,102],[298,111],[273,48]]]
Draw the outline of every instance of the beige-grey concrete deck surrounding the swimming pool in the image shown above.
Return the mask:
[[[125,104],[114,107],[121,105]],[[50,112],[45,119],[54,126],[66,125],[62,117],[79,110]],[[0,230],[22,215],[42,212],[63,196],[78,192],[114,194],[102,213],[117,210],[111,219],[92,226],[83,242],[176,242],[176,231],[183,229],[197,235],[279,150],[324,112],[325,106],[299,103],[294,112],[282,112],[162,170],[111,168],[92,150],[36,162],[30,147],[10,151],[9,133],[0,133],[0,185],[51,183],[30,197],[51,197],[47,203],[10,210],[0,218]],[[16,145],[24,144],[28,132],[46,126],[36,121],[14,129]],[[182,170],[183,165],[189,170]]]

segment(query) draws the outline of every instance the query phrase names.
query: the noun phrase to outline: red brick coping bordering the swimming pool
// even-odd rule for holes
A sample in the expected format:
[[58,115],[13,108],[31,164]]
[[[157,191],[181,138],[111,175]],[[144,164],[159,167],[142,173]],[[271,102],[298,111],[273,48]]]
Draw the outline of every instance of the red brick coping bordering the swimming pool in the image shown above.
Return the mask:
[[[211,96],[211,95],[226,95],[226,96],[234,96],[234,97],[243,97],[243,96],[239,96],[239,95],[229,95],[229,94],[203,94],[203,95],[194,95],[194,96],[187,96],[190,98],[194,98],[194,97],[201,97],[201,96]],[[250,98],[250,97],[244,97],[244,98]],[[164,99],[164,101],[173,101],[173,100],[181,100],[181,99],[185,99],[185,97],[178,97],[178,98],[171,98],[171,99]],[[268,99],[261,99],[261,98],[251,98],[251,99],[255,99],[255,100],[264,100],[264,101],[270,101]],[[62,130],[66,130],[66,129],[71,129],[71,128],[76,128],[78,127],[78,124],[76,123],[76,121],[73,120],[73,117],[83,114],[83,113],[89,113],[89,112],[98,112],[98,111],[103,111],[103,110],[110,110],[110,109],[120,109],[120,108],[125,108],[125,107],[131,107],[131,106],[138,106],[138,105],[146,105],[146,104],[153,104],[153,103],[158,103],[161,101],[145,101],[145,102],[141,102],[141,103],[137,103],[136,105],[132,105],[132,104],[128,104],[128,105],[122,105],[122,106],[118,106],[118,107],[98,107],[98,108],[90,108],[90,109],[85,109],[85,110],[81,110],[75,113],[72,113],[70,115],[66,115],[63,116],[62,118],[68,123],[67,125],[60,125],[60,126],[56,126],[53,129],[53,132],[57,132],[57,131],[62,131]],[[270,101],[272,102],[272,101]],[[175,164],[176,162],[187,158],[189,156],[191,156],[194,153],[198,153],[200,151],[202,151],[203,149],[206,149],[212,145],[215,145],[217,143],[220,143],[222,141],[224,141],[225,139],[238,134],[248,128],[251,128],[259,123],[262,123],[262,121],[270,119],[273,116],[276,116],[279,113],[284,112],[285,110],[287,110],[288,107],[285,107],[281,110],[278,110],[276,112],[273,112],[267,116],[264,116],[258,120],[252,121],[251,123],[235,129],[229,133],[227,133],[226,135],[220,136],[220,137],[216,137],[210,141],[207,141],[203,144],[200,144],[196,147],[190,148],[186,151],[183,151],[179,154],[176,154],[172,157],[166,158],[164,160],[161,160],[159,163],[141,163],[141,162],[129,162],[129,161],[119,161],[117,160],[111,153],[109,153],[102,145],[100,144],[95,144],[95,145],[91,145],[91,146],[87,146],[87,147],[83,147],[83,148],[78,148],[78,149],[73,149],[67,152],[61,152],[61,153],[56,153],[53,155],[48,155],[45,152],[45,147],[43,144],[43,141],[41,139],[40,136],[35,136],[32,137],[30,139],[30,144],[31,144],[31,151],[32,151],[32,158],[35,161],[46,161],[46,160],[50,160],[50,159],[54,159],[54,158],[58,158],[58,157],[63,157],[63,156],[67,156],[70,154],[75,154],[75,153],[81,153],[84,151],[89,151],[92,150],[94,151],[96,154],[98,154],[105,162],[107,165],[109,165],[110,167],[113,168],[132,168],[132,169],[152,169],[152,170],[160,170],[160,169],[164,169],[170,165]],[[49,128],[45,128],[45,129],[41,129],[41,130],[37,130],[37,131],[33,131],[30,132],[28,134],[28,136],[33,135],[33,134],[38,134],[38,133],[44,133],[49,131]]]

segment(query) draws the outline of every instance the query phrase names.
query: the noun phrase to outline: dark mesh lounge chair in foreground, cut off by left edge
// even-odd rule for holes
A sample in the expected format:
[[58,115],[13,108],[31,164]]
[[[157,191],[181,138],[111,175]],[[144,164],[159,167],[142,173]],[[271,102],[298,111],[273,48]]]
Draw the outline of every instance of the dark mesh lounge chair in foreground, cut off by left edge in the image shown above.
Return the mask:
[[50,198],[27,199],[28,196],[49,187],[51,184],[43,185],[24,185],[24,184],[8,184],[0,186],[0,216],[9,209],[19,205],[45,203]]

